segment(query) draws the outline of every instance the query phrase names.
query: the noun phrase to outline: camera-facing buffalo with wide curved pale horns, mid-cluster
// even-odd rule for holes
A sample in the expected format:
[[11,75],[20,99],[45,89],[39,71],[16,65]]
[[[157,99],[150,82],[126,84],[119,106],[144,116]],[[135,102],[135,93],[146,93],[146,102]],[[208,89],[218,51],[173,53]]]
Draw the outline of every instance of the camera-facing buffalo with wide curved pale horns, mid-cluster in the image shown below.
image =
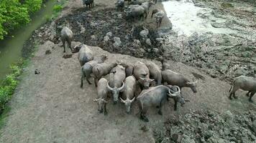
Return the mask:
[[124,89],[125,71],[124,66],[117,65],[111,69],[109,74],[108,88],[113,95],[114,104],[117,103],[119,92]]

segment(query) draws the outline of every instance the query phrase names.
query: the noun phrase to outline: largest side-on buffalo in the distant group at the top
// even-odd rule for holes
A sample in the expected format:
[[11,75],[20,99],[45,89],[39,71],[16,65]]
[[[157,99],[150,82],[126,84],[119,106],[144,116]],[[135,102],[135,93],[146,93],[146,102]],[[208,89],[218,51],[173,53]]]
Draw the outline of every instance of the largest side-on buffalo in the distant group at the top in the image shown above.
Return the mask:
[[128,9],[125,9],[127,19],[145,19],[147,17],[147,11],[140,5],[130,5]]

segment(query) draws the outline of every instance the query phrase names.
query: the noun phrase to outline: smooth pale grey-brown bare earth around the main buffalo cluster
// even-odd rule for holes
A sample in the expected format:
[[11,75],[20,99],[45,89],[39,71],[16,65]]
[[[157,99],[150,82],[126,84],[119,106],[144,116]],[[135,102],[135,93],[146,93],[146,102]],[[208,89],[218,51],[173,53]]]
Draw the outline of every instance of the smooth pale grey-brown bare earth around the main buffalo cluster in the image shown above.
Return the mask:
[[[81,6],[81,1],[78,2],[70,2],[63,14],[67,14],[72,6]],[[52,54],[45,55],[47,49],[51,49]],[[96,56],[107,54],[109,59],[106,62],[147,62],[132,56],[110,54],[99,47],[91,49]],[[93,102],[96,88],[87,82],[84,82],[83,89],[80,88],[81,66],[77,54],[70,59],[63,59],[62,56],[63,48],[50,41],[39,47],[29,66],[24,69],[22,82],[10,102],[12,109],[6,117],[5,127],[0,131],[0,142],[155,142],[153,129],[161,129],[165,119],[172,114],[184,114],[191,109],[211,109],[220,113],[256,110],[255,103],[248,102],[245,92],[238,91],[239,99],[229,100],[230,85],[227,82],[206,76],[191,66],[170,61],[170,69],[189,79],[196,79],[192,72],[203,77],[198,79],[197,94],[193,94],[191,89],[183,89],[184,97],[191,102],[174,112],[173,101],[170,101],[163,107],[163,116],[152,108],[148,112],[148,123],[139,119],[137,104],[133,104],[132,114],[126,114],[124,105],[109,102],[109,114],[104,116],[97,112]],[[155,62],[160,65],[159,61]],[[40,71],[39,75],[34,74],[35,69]]]

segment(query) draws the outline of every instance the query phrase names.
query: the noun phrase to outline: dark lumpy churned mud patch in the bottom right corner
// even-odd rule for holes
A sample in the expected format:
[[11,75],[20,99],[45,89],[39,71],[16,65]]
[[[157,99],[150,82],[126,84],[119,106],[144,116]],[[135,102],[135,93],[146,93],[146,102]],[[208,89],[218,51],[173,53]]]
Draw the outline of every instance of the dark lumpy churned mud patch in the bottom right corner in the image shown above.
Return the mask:
[[255,142],[256,114],[197,110],[165,121],[156,142]]

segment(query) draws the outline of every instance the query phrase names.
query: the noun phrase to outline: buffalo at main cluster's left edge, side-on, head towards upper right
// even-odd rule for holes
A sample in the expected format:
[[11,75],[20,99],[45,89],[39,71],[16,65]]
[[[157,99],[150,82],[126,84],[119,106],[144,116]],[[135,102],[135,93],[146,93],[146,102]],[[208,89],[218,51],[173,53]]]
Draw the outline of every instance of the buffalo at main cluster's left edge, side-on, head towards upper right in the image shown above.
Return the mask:
[[98,63],[103,63],[106,60],[106,55],[102,54],[99,59],[93,59],[92,61],[86,62],[86,64],[83,64],[82,66],[82,77],[81,77],[81,88],[83,87],[83,79],[86,77],[86,81],[88,84],[91,84],[89,79],[91,78],[91,73],[93,72],[93,66],[95,66]]

